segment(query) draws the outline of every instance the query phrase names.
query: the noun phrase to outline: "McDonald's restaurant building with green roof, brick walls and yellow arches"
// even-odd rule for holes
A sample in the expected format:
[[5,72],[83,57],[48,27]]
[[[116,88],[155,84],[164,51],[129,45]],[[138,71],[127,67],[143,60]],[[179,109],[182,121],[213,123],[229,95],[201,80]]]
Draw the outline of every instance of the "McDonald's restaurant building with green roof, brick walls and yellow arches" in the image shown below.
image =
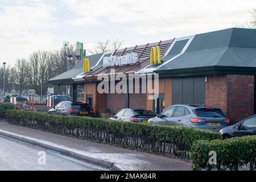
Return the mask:
[[[150,100],[152,94],[142,92],[148,86],[142,78],[138,85],[132,83],[133,92],[98,90],[99,77],[118,75],[158,75],[158,89],[153,84],[158,98]],[[256,114],[255,75],[256,30],[228,28],[85,56],[73,69],[48,81],[73,85],[73,100],[88,102],[98,117],[127,107],[161,113],[174,104],[205,104],[220,107],[238,122]],[[127,90],[130,87],[127,84]]]

